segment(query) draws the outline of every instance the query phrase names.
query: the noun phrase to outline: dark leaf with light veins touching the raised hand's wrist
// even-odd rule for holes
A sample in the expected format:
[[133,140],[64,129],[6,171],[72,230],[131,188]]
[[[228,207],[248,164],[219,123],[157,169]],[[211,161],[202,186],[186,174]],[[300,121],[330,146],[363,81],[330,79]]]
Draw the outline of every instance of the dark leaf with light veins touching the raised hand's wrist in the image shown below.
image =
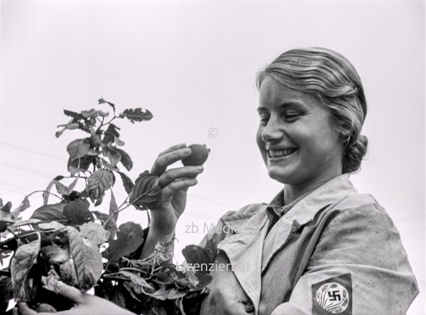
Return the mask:
[[154,210],[161,202],[161,187],[158,185],[158,177],[146,170],[136,179],[129,201],[136,209]]

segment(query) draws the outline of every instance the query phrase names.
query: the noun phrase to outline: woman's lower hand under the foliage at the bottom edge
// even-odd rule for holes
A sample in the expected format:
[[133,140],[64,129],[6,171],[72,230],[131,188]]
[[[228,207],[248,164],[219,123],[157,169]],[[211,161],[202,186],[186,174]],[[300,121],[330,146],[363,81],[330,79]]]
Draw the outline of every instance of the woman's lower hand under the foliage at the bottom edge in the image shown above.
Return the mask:
[[[67,284],[63,284],[59,289],[59,294],[67,297],[75,303],[75,306],[72,309],[67,311],[58,311],[56,313],[38,313],[33,309],[30,309],[25,302],[18,303],[19,314],[21,315],[134,315],[131,311],[122,309],[120,306],[102,299],[101,297],[96,297],[90,294],[84,294],[80,292],[75,287],[70,287]],[[15,314],[15,313],[13,313]]]

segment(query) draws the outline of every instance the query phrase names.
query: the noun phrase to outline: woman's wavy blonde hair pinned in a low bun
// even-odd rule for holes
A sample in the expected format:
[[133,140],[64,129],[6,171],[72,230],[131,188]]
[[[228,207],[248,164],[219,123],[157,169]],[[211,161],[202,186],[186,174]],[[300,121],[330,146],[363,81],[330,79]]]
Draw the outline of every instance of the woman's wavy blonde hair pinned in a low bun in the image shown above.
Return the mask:
[[361,79],[351,62],[326,48],[293,49],[258,72],[258,90],[267,76],[285,87],[322,99],[342,140],[342,172],[359,170],[368,145],[366,136],[361,135],[367,104]]

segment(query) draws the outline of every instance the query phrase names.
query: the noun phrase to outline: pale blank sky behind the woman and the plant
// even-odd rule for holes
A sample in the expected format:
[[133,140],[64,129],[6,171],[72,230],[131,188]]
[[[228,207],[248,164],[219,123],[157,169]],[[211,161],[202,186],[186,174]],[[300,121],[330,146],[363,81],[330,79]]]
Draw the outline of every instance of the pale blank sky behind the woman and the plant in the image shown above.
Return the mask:
[[[0,197],[18,206],[67,175],[66,145],[85,134],[55,138],[68,121],[62,109],[107,110],[100,97],[119,111],[149,109],[151,121],[118,122],[133,179],[171,145],[211,149],[179,222],[182,262],[180,250],[201,240],[204,223],[268,202],[281,188],[256,146],[255,74],[280,52],[305,46],[341,52],[361,76],[369,149],[351,179],[398,227],[421,288],[408,314],[425,314],[424,1],[2,0]],[[41,199],[31,198],[33,209]],[[146,226],[144,213],[123,212],[128,220]],[[198,233],[185,233],[191,224]]]

